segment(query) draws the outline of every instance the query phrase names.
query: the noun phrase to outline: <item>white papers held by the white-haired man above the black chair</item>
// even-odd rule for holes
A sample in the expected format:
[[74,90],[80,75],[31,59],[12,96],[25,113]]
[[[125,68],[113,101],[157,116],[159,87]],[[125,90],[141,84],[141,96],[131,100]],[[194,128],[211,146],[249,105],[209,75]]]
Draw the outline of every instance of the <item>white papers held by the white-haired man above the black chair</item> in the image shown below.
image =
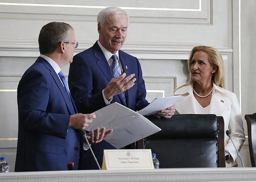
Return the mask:
[[165,97],[165,98],[154,98],[152,102],[145,107],[144,109],[141,109],[138,111],[139,114],[143,116],[151,115],[151,114],[156,114],[157,111],[166,109],[169,106],[172,106],[175,104],[179,99],[181,95],[175,95],[171,97]]

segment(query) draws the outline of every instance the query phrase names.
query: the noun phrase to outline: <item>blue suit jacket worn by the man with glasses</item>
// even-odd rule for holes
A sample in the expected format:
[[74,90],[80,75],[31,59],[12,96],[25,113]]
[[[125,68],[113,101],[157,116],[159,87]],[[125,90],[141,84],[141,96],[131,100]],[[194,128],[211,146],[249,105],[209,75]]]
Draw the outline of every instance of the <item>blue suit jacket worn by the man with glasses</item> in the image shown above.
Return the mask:
[[[79,130],[68,127],[72,106],[58,75],[44,58],[38,57],[22,76],[17,100],[15,171],[67,170],[68,162],[74,162],[77,170],[82,142]],[[73,108],[77,113],[74,102]]]

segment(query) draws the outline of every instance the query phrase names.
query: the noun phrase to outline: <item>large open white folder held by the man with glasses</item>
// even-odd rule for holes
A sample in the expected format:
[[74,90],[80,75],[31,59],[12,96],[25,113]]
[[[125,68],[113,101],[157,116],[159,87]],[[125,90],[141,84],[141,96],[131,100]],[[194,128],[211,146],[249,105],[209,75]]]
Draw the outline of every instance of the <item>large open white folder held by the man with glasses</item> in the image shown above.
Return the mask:
[[92,131],[103,127],[106,131],[113,129],[104,140],[117,149],[161,131],[144,116],[117,102],[99,109],[94,114],[96,118],[85,130]]

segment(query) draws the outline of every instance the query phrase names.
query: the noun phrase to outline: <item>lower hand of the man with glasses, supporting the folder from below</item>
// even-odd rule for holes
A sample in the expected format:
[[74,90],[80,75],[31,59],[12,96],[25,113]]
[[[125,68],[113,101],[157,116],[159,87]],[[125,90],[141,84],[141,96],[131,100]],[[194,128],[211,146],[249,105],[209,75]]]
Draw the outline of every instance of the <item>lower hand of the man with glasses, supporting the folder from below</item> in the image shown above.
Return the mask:
[[105,133],[105,128],[101,129],[95,129],[94,131],[91,131],[86,137],[89,141],[89,143],[99,143],[104,138],[106,138],[108,135],[110,135],[113,132],[113,130],[109,130]]

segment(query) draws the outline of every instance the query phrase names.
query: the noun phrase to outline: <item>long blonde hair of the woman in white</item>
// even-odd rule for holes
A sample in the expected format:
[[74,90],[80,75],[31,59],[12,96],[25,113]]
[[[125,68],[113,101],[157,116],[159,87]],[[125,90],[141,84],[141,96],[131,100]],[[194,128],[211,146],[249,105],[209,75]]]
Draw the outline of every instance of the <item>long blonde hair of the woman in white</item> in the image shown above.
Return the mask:
[[188,85],[194,85],[195,84],[195,81],[192,80],[190,67],[191,67],[191,61],[193,59],[193,56],[197,51],[205,52],[208,55],[208,60],[211,63],[211,65],[212,66],[215,66],[215,65],[217,66],[216,71],[212,74],[212,80],[217,86],[220,86],[220,87],[225,89],[224,64],[223,64],[223,58],[222,58],[220,52],[217,49],[213,48],[213,47],[196,46],[191,50],[188,61],[187,61],[188,72],[189,72],[189,75],[190,75],[190,79],[189,79],[188,83],[178,87],[177,89],[174,90],[174,92],[176,90],[178,90],[179,88],[183,87],[183,86],[188,86]]

